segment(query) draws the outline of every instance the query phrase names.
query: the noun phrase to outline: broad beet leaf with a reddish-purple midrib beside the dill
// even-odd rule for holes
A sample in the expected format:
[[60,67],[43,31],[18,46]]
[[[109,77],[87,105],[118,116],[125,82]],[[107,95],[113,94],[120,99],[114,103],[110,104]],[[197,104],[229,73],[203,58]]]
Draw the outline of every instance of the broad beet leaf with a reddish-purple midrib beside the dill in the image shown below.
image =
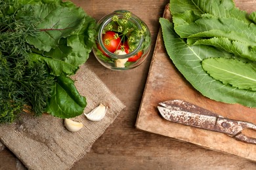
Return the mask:
[[49,52],[56,48],[62,37],[68,37],[83,23],[85,16],[81,10],[74,10],[68,7],[50,3],[43,5],[24,5],[23,10],[18,12],[19,17],[36,17],[41,19],[37,25],[37,36],[28,36],[29,44],[39,50]]

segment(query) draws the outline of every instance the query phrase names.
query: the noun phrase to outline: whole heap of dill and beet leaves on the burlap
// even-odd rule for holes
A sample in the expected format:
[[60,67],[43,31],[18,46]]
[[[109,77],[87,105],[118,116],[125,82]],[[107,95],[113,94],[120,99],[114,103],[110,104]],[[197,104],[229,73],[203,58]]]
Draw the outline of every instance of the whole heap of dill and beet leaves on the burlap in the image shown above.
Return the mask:
[[70,1],[0,0],[0,123],[16,120],[24,105],[37,116],[83,112],[86,99],[69,76],[89,58],[95,25]]

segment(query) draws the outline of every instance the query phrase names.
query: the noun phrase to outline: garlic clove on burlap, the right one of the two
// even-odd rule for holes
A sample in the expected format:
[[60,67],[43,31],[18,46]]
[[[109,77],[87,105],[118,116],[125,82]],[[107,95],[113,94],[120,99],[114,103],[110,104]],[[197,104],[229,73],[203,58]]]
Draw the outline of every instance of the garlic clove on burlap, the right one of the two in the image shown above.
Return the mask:
[[105,107],[104,105],[102,105],[102,103],[100,103],[100,105],[98,105],[98,107],[96,107],[95,109],[91,110],[91,112],[84,114],[91,121],[100,121],[102,120],[102,118],[104,118],[107,110],[108,107]]

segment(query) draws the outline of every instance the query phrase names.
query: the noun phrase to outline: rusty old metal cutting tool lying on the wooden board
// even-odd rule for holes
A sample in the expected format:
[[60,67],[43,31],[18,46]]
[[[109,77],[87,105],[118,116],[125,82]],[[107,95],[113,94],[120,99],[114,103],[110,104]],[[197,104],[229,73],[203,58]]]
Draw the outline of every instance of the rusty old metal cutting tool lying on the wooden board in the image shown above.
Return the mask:
[[158,110],[165,120],[224,133],[238,141],[256,144],[256,139],[247,137],[243,129],[256,130],[255,124],[224,118],[210,110],[179,99],[159,103]]

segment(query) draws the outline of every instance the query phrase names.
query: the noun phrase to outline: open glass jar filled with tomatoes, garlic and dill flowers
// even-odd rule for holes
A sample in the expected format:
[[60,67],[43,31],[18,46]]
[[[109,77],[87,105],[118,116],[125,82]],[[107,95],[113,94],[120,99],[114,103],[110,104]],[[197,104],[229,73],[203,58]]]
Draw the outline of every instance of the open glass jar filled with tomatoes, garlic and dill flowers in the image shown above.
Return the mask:
[[151,35],[147,25],[127,10],[116,10],[98,21],[93,53],[112,70],[139,66],[148,56]]

